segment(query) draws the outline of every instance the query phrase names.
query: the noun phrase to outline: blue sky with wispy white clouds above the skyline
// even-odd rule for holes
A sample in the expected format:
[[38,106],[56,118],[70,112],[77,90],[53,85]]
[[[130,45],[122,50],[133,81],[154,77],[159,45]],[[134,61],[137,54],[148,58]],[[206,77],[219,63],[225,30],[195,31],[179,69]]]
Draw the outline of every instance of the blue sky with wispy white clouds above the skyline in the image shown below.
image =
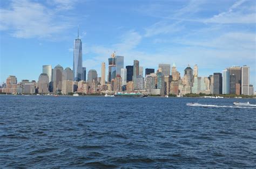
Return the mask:
[[124,64],[173,64],[199,76],[250,66],[256,85],[256,1],[45,0],[0,1],[0,82],[9,75],[38,80],[43,65],[73,65],[73,41],[83,66],[96,69],[114,51]]

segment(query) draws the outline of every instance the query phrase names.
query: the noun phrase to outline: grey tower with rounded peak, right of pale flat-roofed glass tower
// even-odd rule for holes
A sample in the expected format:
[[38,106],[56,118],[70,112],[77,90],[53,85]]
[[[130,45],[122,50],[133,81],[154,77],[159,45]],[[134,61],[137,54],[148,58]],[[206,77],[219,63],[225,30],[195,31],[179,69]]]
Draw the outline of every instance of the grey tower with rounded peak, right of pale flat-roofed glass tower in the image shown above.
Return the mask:
[[63,67],[60,65],[57,65],[53,69],[53,76],[52,76],[53,93],[57,94],[58,91],[62,90],[62,78],[63,78]]

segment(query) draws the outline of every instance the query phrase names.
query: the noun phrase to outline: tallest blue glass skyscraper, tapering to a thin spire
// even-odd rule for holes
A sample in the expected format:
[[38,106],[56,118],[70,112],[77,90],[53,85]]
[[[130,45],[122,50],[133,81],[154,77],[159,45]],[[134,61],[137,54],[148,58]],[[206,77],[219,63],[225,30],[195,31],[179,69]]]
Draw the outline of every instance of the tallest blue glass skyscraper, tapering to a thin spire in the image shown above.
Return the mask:
[[73,53],[74,81],[82,80],[82,75],[83,75],[82,40],[79,39],[79,27],[78,27],[77,39],[74,41],[74,53]]

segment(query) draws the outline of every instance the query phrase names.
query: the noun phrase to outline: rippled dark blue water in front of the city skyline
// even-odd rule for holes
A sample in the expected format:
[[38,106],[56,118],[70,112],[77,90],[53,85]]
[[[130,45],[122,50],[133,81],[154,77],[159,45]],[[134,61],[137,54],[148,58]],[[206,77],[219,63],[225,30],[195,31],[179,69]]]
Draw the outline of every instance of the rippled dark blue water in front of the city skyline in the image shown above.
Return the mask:
[[256,107],[235,108],[234,101],[256,104],[0,96],[0,167],[255,168]]

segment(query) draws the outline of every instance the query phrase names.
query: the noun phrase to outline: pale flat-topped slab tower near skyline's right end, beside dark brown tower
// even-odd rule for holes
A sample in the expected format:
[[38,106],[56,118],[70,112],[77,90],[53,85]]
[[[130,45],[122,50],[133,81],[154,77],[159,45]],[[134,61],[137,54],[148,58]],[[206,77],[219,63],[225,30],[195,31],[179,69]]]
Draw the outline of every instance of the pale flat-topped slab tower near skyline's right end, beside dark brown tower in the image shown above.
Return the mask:
[[245,65],[245,66],[242,66],[241,68],[241,94],[250,95],[249,87],[250,87],[250,67]]

